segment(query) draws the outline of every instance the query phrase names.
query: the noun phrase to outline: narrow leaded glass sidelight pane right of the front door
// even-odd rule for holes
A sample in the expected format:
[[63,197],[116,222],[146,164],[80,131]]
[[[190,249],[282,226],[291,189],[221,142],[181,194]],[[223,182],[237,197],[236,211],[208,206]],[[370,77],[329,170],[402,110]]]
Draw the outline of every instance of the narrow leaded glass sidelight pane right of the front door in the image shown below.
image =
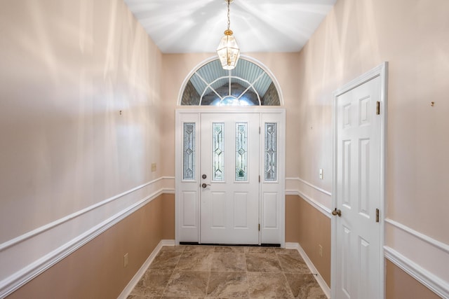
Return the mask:
[[277,177],[277,123],[265,123],[265,181]]

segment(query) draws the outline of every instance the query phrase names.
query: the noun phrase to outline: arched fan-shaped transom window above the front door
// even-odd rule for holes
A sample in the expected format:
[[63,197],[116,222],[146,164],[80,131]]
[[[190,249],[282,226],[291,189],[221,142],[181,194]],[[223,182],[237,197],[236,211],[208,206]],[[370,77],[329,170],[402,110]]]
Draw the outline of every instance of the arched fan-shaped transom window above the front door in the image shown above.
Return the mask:
[[280,106],[272,78],[257,64],[241,57],[235,69],[222,69],[218,59],[194,71],[182,92],[181,105]]

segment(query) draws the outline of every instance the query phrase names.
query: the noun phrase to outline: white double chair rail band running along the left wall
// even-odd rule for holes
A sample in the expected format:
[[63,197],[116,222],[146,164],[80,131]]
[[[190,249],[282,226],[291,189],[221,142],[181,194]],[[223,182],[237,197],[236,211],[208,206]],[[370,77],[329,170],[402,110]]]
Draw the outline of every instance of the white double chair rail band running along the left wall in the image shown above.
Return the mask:
[[[111,228],[159,195],[175,193],[175,178],[161,176],[0,244],[0,298]],[[29,249],[32,248],[32,251]]]

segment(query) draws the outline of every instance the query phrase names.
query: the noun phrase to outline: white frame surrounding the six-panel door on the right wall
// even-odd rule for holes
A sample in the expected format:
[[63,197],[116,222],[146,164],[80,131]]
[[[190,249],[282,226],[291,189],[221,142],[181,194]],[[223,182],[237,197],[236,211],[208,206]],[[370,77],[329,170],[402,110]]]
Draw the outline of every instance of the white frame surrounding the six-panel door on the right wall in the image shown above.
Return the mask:
[[[375,67],[374,69],[368,71],[366,74],[363,74],[362,76],[359,76],[358,78],[355,78],[354,80],[350,81],[349,83],[343,85],[341,88],[338,88],[333,92],[333,109],[332,109],[332,127],[333,127],[333,179],[332,179],[332,204],[333,207],[337,207],[337,98],[344,94],[345,92],[348,92],[349,90],[352,90],[363,83],[366,83],[373,78],[380,77],[381,81],[381,92],[380,92],[380,256],[381,258],[384,258],[384,216],[385,216],[385,155],[386,155],[386,137],[387,137],[387,76],[388,76],[388,62],[384,62],[380,64],[379,66]],[[336,288],[335,285],[336,279],[338,274],[338,269],[335,267],[335,263],[337,260],[337,252],[336,252],[336,242],[337,242],[337,224],[336,224],[337,218],[333,216],[331,220],[331,267],[330,267],[330,281],[331,281],[331,298],[335,298]],[[382,263],[380,265],[380,281],[383,281],[383,289],[381,290],[382,298],[385,296],[385,269],[384,269],[384,261],[382,260]],[[382,299],[381,298],[381,299]],[[337,299],[337,298],[335,298]]]

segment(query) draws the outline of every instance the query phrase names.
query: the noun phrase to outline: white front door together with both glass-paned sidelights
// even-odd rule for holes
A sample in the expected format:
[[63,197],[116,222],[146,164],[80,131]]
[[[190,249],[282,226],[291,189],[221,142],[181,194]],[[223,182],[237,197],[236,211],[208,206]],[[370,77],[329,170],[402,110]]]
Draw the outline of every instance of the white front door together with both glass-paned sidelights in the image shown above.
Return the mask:
[[283,244],[284,115],[177,114],[177,242]]

